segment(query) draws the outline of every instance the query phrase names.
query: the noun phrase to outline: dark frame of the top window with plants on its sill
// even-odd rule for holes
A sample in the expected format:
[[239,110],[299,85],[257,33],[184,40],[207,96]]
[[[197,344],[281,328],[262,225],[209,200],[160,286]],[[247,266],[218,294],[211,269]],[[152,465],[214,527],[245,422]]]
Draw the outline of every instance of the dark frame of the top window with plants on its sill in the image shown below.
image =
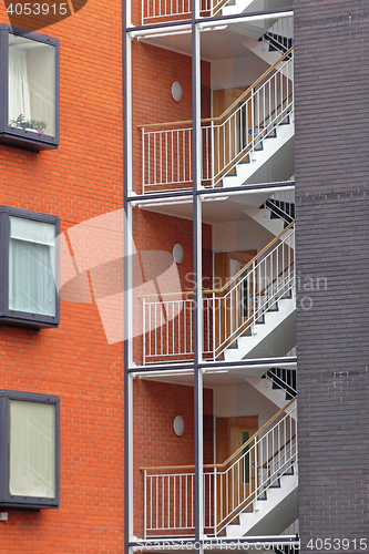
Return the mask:
[[[14,129],[8,120],[8,60],[9,34],[42,42],[55,48],[55,136],[35,134],[23,129]],[[60,144],[60,42],[47,34],[27,31],[6,23],[0,23],[0,144],[40,152],[58,148]]]

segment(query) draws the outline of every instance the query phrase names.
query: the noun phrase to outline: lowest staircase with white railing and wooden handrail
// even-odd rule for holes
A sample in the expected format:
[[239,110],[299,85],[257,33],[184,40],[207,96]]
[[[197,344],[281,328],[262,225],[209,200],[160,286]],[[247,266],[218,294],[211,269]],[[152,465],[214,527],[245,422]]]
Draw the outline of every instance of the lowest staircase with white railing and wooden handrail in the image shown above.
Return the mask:
[[[206,534],[278,535],[298,516],[297,400],[290,400],[223,464],[204,466]],[[194,468],[142,468],[144,537],[194,529]]]

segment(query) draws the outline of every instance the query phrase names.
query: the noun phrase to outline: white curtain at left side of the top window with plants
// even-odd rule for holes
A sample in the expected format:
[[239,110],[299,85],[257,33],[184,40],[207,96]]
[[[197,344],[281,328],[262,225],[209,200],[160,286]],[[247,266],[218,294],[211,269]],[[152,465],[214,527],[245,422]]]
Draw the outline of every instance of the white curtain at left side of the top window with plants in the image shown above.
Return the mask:
[[27,72],[27,51],[9,44],[9,121],[19,115],[31,119],[31,99]]

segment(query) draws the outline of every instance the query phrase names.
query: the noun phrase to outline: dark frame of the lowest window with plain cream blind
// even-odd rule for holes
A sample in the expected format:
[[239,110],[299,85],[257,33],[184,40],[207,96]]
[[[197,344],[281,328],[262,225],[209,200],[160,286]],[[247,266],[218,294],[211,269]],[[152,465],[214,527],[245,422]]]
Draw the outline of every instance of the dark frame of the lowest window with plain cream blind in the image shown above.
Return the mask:
[[[55,497],[16,496],[9,493],[9,400],[55,406]],[[0,509],[41,510],[60,505],[60,398],[53,394],[0,390]]]

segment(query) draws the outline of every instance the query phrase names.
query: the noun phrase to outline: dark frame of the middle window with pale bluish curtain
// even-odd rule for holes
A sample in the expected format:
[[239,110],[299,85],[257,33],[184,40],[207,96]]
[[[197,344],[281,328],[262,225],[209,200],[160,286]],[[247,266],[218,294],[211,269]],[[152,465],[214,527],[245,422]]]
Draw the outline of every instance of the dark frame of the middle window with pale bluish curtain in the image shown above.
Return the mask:
[[58,327],[60,324],[60,252],[58,240],[55,240],[55,316],[9,309],[10,216],[55,225],[55,237],[60,235],[60,219],[58,216],[0,206],[0,325],[38,330],[47,327]]

